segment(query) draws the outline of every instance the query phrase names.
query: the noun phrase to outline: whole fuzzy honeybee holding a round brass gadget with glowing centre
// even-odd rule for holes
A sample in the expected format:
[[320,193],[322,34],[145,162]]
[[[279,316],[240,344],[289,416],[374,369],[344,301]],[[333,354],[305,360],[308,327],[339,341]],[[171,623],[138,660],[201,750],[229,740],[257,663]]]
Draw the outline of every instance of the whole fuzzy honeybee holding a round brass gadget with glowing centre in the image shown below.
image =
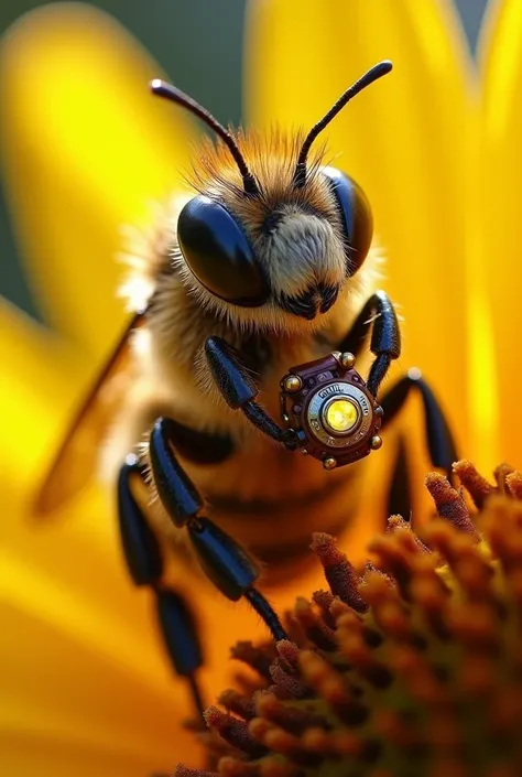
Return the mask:
[[[175,87],[152,82],[153,93],[199,117],[220,143],[202,143],[195,195],[167,202],[153,231],[129,248],[126,289],[140,302],[37,504],[47,512],[78,488],[102,439],[101,470],[118,481],[134,582],[155,585],[161,576],[154,532],[180,536],[186,527],[208,576],[229,598],[246,595],[279,637],[247,553],[286,562],[308,548],[319,514],[322,530],[341,530],[359,460],[380,446],[381,425],[412,386],[425,399],[434,463],[447,468],[456,458],[417,376],[377,397],[400,355],[400,332],[377,289],[371,208],[315,143],[390,69],[376,65],[307,133],[291,136],[227,130]],[[365,369],[358,361],[356,370],[360,357]],[[142,460],[127,457],[143,439],[160,497],[146,517],[130,487]]]

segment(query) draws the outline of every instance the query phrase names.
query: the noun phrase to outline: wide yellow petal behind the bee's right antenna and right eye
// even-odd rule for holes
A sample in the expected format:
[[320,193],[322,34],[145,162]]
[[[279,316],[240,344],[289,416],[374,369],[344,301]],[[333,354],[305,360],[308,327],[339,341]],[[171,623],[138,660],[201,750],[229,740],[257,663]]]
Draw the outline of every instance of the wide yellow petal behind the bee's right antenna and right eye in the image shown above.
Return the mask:
[[372,85],[324,132],[372,203],[385,288],[405,319],[399,368],[422,368],[466,439],[465,168],[469,56],[436,0],[250,3],[246,98],[253,123],[309,128],[380,60]]

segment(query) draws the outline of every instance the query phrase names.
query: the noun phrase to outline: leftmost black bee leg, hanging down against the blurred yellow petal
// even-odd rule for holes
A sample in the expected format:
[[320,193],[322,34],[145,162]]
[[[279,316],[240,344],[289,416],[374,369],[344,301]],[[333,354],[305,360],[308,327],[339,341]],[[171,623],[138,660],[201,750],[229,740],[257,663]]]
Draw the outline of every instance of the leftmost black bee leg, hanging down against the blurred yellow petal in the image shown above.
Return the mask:
[[127,457],[118,477],[118,520],[123,555],[135,585],[149,585],[167,654],[177,675],[186,678],[194,705],[203,721],[205,705],[197,681],[203,663],[195,620],[180,593],[161,585],[163,559],[157,539],[132,494],[132,481],[143,479],[143,466],[134,455]]

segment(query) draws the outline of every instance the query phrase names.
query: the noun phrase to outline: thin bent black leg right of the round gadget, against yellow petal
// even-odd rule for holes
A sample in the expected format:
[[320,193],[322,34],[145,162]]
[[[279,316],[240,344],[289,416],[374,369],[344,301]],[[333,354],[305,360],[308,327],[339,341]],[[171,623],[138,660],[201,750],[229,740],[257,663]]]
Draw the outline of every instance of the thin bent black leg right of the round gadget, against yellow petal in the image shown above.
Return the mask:
[[445,470],[452,476],[452,465],[458,460],[455,441],[443,410],[429,386],[423,380],[420,370],[411,369],[406,376],[382,397],[384,429],[405,404],[411,391],[418,391],[424,406],[425,434],[429,458],[435,467]]

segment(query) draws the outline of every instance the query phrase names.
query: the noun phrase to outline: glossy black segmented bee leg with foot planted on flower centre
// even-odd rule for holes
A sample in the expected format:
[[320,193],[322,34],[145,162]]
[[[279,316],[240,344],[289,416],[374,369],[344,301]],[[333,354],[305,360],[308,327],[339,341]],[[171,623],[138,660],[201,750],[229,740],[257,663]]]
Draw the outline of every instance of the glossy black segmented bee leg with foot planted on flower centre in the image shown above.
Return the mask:
[[171,419],[159,419],[149,445],[152,474],[163,507],[176,527],[186,527],[202,569],[216,587],[232,602],[244,597],[274,639],[286,639],[278,615],[253,587],[259,578],[255,562],[216,524],[199,515],[203,499],[174,455],[172,433],[175,435]]

